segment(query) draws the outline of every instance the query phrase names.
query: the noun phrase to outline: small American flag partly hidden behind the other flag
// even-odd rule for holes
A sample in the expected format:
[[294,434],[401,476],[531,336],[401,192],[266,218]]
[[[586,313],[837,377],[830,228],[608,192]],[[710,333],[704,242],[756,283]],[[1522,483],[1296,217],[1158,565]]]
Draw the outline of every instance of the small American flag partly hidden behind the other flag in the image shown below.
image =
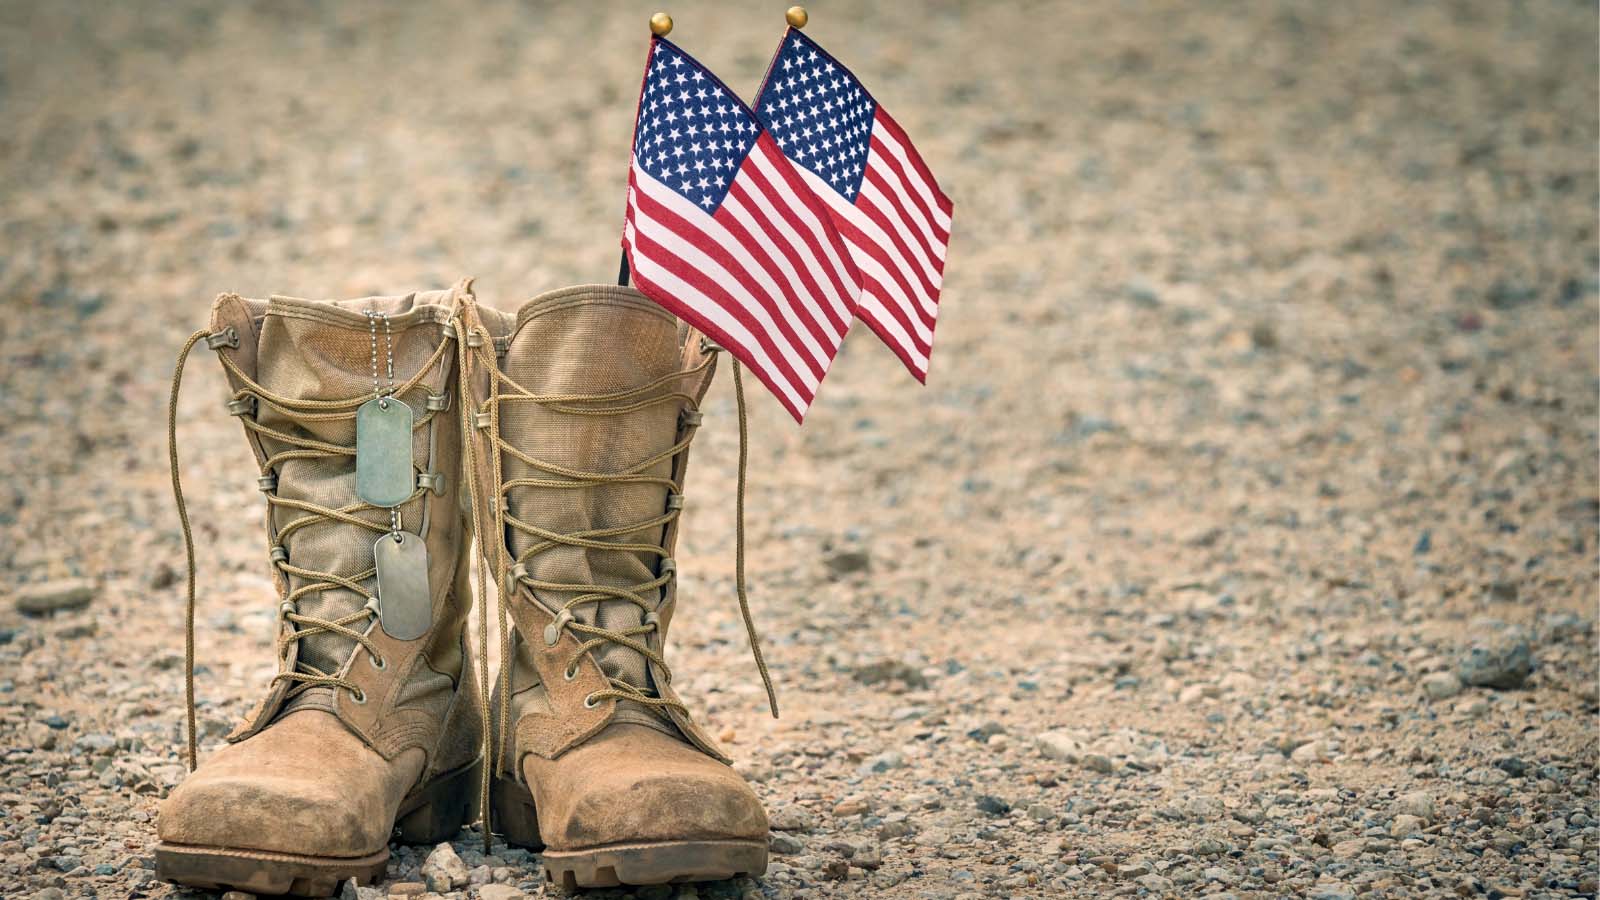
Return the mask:
[[856,314],[926,383],[954,210],[928,163],[850,69],[797,29],[778,45],[755,117],[861,267]]

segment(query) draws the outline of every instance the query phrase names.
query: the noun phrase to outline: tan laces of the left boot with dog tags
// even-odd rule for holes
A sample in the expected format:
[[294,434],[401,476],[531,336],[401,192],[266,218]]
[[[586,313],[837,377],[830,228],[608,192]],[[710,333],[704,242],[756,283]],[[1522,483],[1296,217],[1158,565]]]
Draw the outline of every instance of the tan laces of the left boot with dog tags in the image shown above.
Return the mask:
[[[218,335],[224,333],[219,331]],[[178,469],[178,391],[179,386],[182,384],[184,364],[189,359],[189,351],[192,351],[194,346],[202,340],[208,340],[211,336],[213,336],[211,331],[202,330],[190,335],[189,340],[184,343],[184,348],[178,354],[178,365],[173,368],[173,392],[166,407],[166,452],[173,476],[173,500],[178,503],[178,519],[182,524],[184,530],[184,556],[189,567],[187,607],[184,613],[184,701],[187,706],[187,725],[189,725],[187,730],[189,770],[194,770],[198,762],[198,738],[195,737],[195,543],[194,543],[194,532],[190,530],[189,525],[189,508],[184,503],[182,479]],[[218,344],[218,348],[219,346],[222,344]],[[418,384],[421,384],[422,378],[427,375],[430,368],[434,368],[434,365],[438,364],[445,351],[446,351],[446,341],[440,341],[438,349],[435,349],[434,356],[426,364],[422,364],[418,373],[410,380],[406,380],[405,383],[395,386],[390,396],[400,397],[405,392],[414,389]],[[272,565],[285,575],[285,580],[288,580],[288,577],[299,577],[304,581],[299,588],[288,591],[283,601],[278,602],[278,615],[288,623],[291,623],[294,629],[286,634],[280,631],[278,634],[277,653],[278,653],[280,671],[272,677],[272,687],[275,689],[280,681],[288,681],[294,684],[294,687],[291,687],[283,695],[285,701],[298,697],[299,693],[312,687],[325,685],[336,690],[349,690],[352,700],[355,700],[357,703],[365,703],[366,697],[362,693],[362,689],[354,682],[338,677],[334,674],[328,674],[312,666],[310,663],[306,663],[304,660],[298,658],[294,668],[285,671],[283,661],[288,658],[291,645],[298,641],[304,641],[306,637],[312,637],[315,634],[339,634],[342,637],[354,641],[362,649],[365,649],[368,658],[371,660],[371,665],[384,668],[387,663],[373,647],[371,639],[366,637],[366,631],[370,629],[370,621],[378,618],[379,613],[378,613],[378,597],[373,596],[376,588],[368,589],[363,583],[373,581],[378,575],[378,569],[370,567],[365,572],[358,572],[355,575],[341,575],[338,572],[320,572],[315,569],[306,569],[290,562],[286,544],[288,538],[296,532],[320,524],[344,524],[358,528],[366,528],[376,533],[389,533],[390,525],[371,522],[358,516],[360,512],[378,509],[378,506],[373,506],[371,503],[355,501],[346,506],[330,508],[306,500],[290,500],[278,496],[275,490],[277,466],[290,460],[325,460],[339,456],[349,456],[354,461],[355,447],[354,445],[346,447],[342,444],[330,444],[326,440],[317,440],[312,437],[302,437],[298,434],[277,431],[274,428],[264,426],[259,421],[256,421],[256,416],[250,415],[248,408],[243,405],[267,404],[274,410],[282,413],[285,418],[307,421],[307,423],[350,421],[355,418],[357,407],[370,400],[371,394],[362,394],[358,397],[350,397],[344,400],[299,400],[293,397],[283,397],[280,394],[266,389],[253,378],[245,375],[238,368],[238,365],[234,364],[234,360],[229,359],[227,356],[219,356],[218,359],[222,360],[222,367],[227,370],[227,373],[243,384],[243,388],[234,392],[232,400],[229,402],[229,410],[230,412],[245,410],[238,413],[238,418],[246,429],[288,445],[286,450],[280,450],[267,456],[261,463],[261,479],[258,480],[258,484],[261,485],[261,490],[267,498],[269,509],[286,508],[304,512],[304,516],[299,516],[286,522],[282,528],[278,528],[275,540],[269,533],[267,554],[272,559]],[[437,410],[434,408],[426,410],[413,423],[413,431],[418,428],[424,428],[435,415]],[[411,492],[411,496],[408,496],[405,503],[411,503],[413,500],[421,496],[426,490],[427,488],[418,487],[416,490]],[[362,609],[349,615],[342,615],[339,618],[320,618],[314,615],[301,615],[299,612],[296,612],[296,604],[301,601],[301,597],[334,588],[346,588],[360,596],[365,596],[366,604]],[[352,625],[357,623],[362,623],[363,628],[360,629],[352,628]]]

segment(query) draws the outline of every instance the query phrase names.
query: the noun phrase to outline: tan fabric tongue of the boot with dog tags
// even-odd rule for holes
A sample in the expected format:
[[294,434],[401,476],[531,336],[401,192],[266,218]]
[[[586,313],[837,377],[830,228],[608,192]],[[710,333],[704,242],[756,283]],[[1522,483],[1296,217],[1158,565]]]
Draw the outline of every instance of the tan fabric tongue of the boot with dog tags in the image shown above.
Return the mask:
[[[395,383],[403,383],[416,375],[438,341],[443,340],[435,317],[411,312],[435,304],[448,309],[448,291],[339,303],[274,298],[261,322],[258,381],[267,391],[290,400],[347,400],[363,394],[370,396],[373,392],[373,336],[363,311],[373,309],[390,317],[389,333],[394,343]],[[389,340],[379,325],[378,360],[384,386],[387,386],[387,349]],[[437,378],[427,378],[427,383],[437,381]],[[405,397],[416,416],[424,415],[422,394],[422,389],[413,389]],[[256,412],[256,421],[298,439],[323,440],[342,447],[355,445],[354,418],[307,420],[262,402]],[[427,434],[426,428],[414,431],[413,461],[427,461]],[[266,434],[261,436],[261,444],[269,456],[296,448],[290,442]],[[330,509],[350,506],[357,501],[354,456],[285,460],[277,464],[275,472],[278,498],[309,501]],[[275,532],[282,532],[285,525],[304,516],[307,512],[301,509],[274,506],[272,525]],[[357,512],[357,516],[389,527],[387,509],[368,509]],[[418,530],[421,516],[419,501],[402,506],[402,517],[408,530]],[[373,541],[378,536],[379,532],[322,519],[291,532],[283,544],[288,549],[290,565],[350,578],[373,567]],[[290,589],[299,589],[309,581],[315,580],[290,575]],[[365,585],[370,591],[376,591],[371,578]],[[294,609],[301,615],[336,620],[360,610],[365,604],[365,594],[347,588],[330,588],[304,594]],[[365,623],[357,621],[352,628],[362,629]],[[355,642],[349,637],[323,633],[299,639],[298,652],[301,663],[326,674],[338,674],[354,649]],[[293,706],[317,703],[318,695],[323,693],[325,689],[307,690],[296,698]]]

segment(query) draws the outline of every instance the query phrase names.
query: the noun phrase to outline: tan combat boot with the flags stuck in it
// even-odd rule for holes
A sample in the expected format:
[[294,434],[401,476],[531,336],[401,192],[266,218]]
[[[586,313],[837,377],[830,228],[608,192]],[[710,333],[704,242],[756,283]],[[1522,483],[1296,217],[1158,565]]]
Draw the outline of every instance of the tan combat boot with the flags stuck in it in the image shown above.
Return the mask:
[[662,658],[715,349],[624,287],[464,317],[480,548],[515,623],[493,820],[565,889],[765,873],[766,812]]

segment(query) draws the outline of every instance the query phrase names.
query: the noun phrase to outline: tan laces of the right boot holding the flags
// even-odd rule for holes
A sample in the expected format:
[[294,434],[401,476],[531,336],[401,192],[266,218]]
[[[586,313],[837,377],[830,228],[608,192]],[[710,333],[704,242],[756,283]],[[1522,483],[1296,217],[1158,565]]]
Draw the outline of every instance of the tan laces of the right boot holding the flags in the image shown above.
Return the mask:
[[[666,682],[672,681],[672,669],[667,666],[666,660],[662,658],[662,653],[653,650],[651,647],[648,647],[640,641],[640,637],[648,636],[659,629],[659,618],[656,615],[656,609],[642,596],[642,593],[664,588],[675,575],[672,567],[664,567],[661,575],[658,575],[656,578],[651,578],[638,585],[629,585],[624,588],[611,585],[544,581],[539,578],[533,578],[528,573],[528,560],[531,560],[533,557],[536,557],[544,551],[558,546],[584,548],[598,552],[648,552],[654,554],[661,560],[667,560],[669,559],[667,551],[659,544],[608,541],[603,538],[616,538],[637,532],[653,530],[658,527],[666,527],[682,512],[680,501],[678,503],[669,501],[667,509],[661,516],[654,516],[642,522],[616,525],[610,528],[555,532],[512,516],[509,511],[510,492],[518,487],[582,490],[602,484],[658,484],[667,488],[669,496],[682,496],[682,485],[675,479],[669,476],[651,476],[645,472],[646,469],[662,461],[674,460],[675,456],[688,450],[688,445],[693,440],[696,429],[699,428],[698,421],[699,415],[694,407],[694,397],[691,397],[690,394],[685,394],[682,391],[666,391],[666,392],[658,392],[658,391],[669,386],[675,380],[702,373],[707,367],[712,365],[714,357],[707,357],[701,365],[694,368],[674,372],[661,378],[656,378],[654,381],[642,384],[638,388],[629,388],[624,391],[614,391],[605,394],[536,394],[533,391],[528,391],[526,388],[523,388],[515,380],[512,380],[510,376],[507,376],[504,372],[499,370],[499,365],[496,364],[496,359],[493,356],[493,349],[490,349],[493,348],[493,338],[486,331],[483,331],[482,328],[469,330],[469,327],[459,319],[458,319],[458,328],[459,330],[458,330],[456,346],[459,348],[458,352],[461,352],[462,383],[464,384],[470,383],[467,373],[472,372],[474,362],[480,364],[483,370],[490,375],[490,384],[488,384],[490,392],[488,397],[483,400],[482,408],[474,408],[475,402],[470,397],[467,397],[464,391],[464,402],[461,404],[461,423],[462,423],[462,445],[467,448],[466,450],[467,479],[472,482],[470,492],[474,498],[480,495],[478,495],[478,485],[475,484],[477,445],[472,442],[470,431],[482,424],[482,428],[486,429],[490,442],[494,448],[494,452],[490,455],[488,463],[491,472],[490,477],[496,485],[494,496],[491,498],[491,501],[494,509],[493,533],[496,535],[493,541],[493,552],[496,557],[494,569],[496,572],[499,572],[499,585],[498,585],[499,602],[496,604],[496,607],[498,607],[498,621],[501,626],[501,677],[499,677],[499,703],[496,705],[498,709],[494,713],[498,716],[498,725],[499,725],[498,733],[501,746],[493,748],[493,756],[496,761],[494,772],[501,773],[504,772],[504,764],[507,756],[504,753],[504,741],[507,740],[506,735],[509,730],[507,727],[510,717],[512,652],[510,652],[509,629],[506,628],[507,597],[510,597],[515,593],[518,585],[526,585],[536,591],[574,594],[570,601],[566,601],[560,609],[555,610],[555,620],[546,628],[544,634],[546,645],[554,645],[560,639],[562,629],[568,629],[573,631],[574,634],[582,634],[586,637],[573,652],[573,657],[566,661],[563,671],[566,677],[573,677],[576,674],[576,668],[581,663],[584,653],[598,649],[605,644],[616,644],[621,647],[627,647],[635,653],[640,653],[642,657],[645,657],[659,668],[661,676]],[[475,360],[472,359],[472,351],[469,348],[478,348]],[[717,348],[707,343],[707,349],[712,349],[715,352]],[[778,697],[773,689],[771,674],[766,671],[766,661],[762,657],[762,644],[755,633],[755,623],[750,618],[750,604],[744,588],[744,484],[746,484],[746,468],[747,468],[749,424],[744,408],[744,383],[739,373],[738,360],[733,360],[733,384],[734,384],[734,399],[739,410],[739,469],[738,469],[738,492],[734,504],[734,586],[739,597],[739,615],[744,620],[746,636],[750,641],[750,652],[755,658],[755,666],[760,671],[762,684],[766,689],[766,703],[773,716],[776,717]],[[506,386],[507,392],[502,392],[501,386]],[[597,418],[626,415],[659,404],[682,402],[685,412],[691,413],[691,416],[688,416],[685,421],[688,434],[682,437],[678,442],[667,447],[666,450],[646,460],[634,463],[619,472],[589,472],[539,460],[504,440],[499,436],[499,413],[501,413],[499,407],[501,404],[507,402],[539,404],[552,412],[570,413],[578,416],[597,416]],[[485,416],[482,421],[477,418],[480,413]],[[504,455],[515,456],[518,461],[528,464],[538,472],[558,477],[550,477],[550,479],[528,477],[528,479],[506,480],[501,471],[501,460]],[[478,508],[480,503],[474,501],[472,525],[474,532],[478,535],[478,540],[483,540],[483,535],[486,532],[477,520]],[[504,533],[507,525],[525,535],[536,538],[534,543],[530,544],[515,559],[509,559],[510,552],[507,551],[504,541]],[[482,554],[478,557],[478,589],[485,596],[486,602],[488,580],[485,577],[485,564]],[[598,604],[611,599],[637,605],[643,612],[643,621],[637,626],[624,629],[606,629],[587,625],[573,615],[573,610],[582,604]],[[486,607],[482,609],[486,610]],[[480,682],[485,697],[488,697],[490,690],[488,690],[488,668],[486,668],[488,666],[486,615],[478,618],[478,647],[480,647],[478,660],[480,665],[483,666],[480,671]],[[595,706],[602,700],[616,698],[616,700],[630,700],[634,703],[640,703],[643,706],[656,709],[675,709],[678,714],[688,716],[688,709],[675,700],[667,700],[664,697],[651,695],[643,689],[635,687],[634,684],[622,679],[610,677],[608,681],[610,681],[608,689],[592,692],[589,693],[589,697],[584,698],[586,706]],[[485,716],[488,714],[490,714],[488,705],[485,705]],[[491,732],[488,722],[485,722],[485,725],[486,725],[485,732],[486,733]],[[488,770],[485,772],[483,793],[485,793],[483,798],[485,809],[488,809],[486,802]]]

